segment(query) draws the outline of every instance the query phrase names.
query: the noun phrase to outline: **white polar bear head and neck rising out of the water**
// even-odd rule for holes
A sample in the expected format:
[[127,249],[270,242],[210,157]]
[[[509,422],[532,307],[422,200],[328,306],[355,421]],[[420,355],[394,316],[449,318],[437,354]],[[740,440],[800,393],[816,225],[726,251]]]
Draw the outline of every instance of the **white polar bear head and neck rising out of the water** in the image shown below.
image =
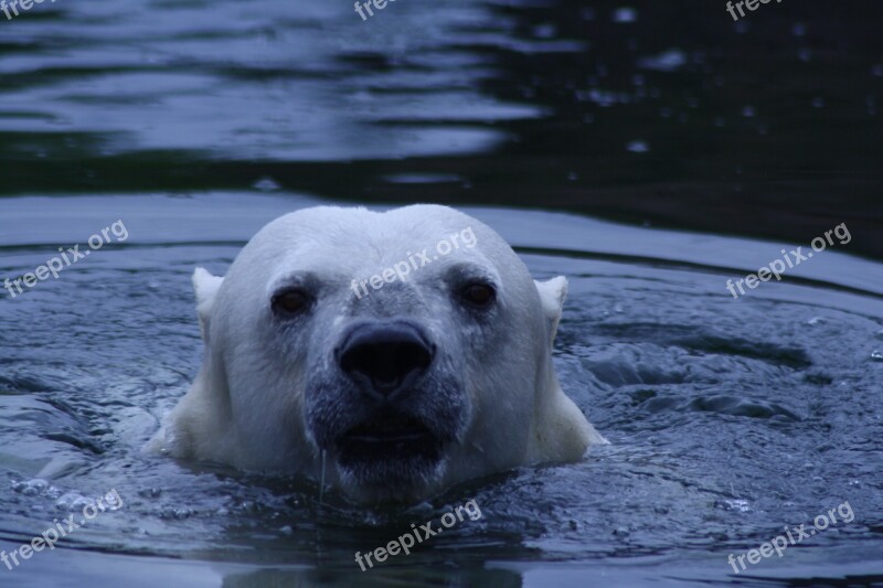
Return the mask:
[[552,364],[566,279],[453,209],[301,210],[193,285],[203,363],[155,451],[376,503],[607,442]]

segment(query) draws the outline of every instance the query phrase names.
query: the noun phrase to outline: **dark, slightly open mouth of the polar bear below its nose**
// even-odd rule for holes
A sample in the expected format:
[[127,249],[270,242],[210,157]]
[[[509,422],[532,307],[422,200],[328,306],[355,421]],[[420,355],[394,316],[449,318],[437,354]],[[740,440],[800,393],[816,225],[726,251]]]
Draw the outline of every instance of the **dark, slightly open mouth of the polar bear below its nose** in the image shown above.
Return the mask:
[[360,423],[338,439],[339,462],[424,461],[442,459],[444,442],[421,419],[384,413]]

